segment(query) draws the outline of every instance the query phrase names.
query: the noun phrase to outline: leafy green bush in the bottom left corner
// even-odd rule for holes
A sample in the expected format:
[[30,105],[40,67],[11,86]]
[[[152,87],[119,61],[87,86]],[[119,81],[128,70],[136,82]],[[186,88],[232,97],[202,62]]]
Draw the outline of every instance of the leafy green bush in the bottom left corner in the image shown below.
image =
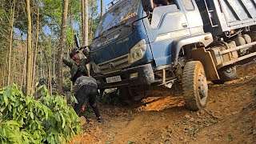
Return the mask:
[[0,90],[0,143],[66,143],[79,134],[80,120],[60,95],[40,87],[37,101],[18,86]]

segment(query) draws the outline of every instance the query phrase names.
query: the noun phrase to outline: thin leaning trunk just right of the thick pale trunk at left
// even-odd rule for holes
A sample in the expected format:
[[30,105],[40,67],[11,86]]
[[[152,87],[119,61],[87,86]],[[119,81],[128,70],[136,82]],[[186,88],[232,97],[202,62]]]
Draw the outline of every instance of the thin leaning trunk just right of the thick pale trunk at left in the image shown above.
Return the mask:
[[35,80],[35,62],[38,57],[38,37],[39,37],[39,14],[40,14],[40,5],[38,5],[38,18],[37,18],[37,34],[36,34],[36,42],[34,47],[34,64],[33,64],[33,74],[32,74],[32,94],[34,93],[34,80]]

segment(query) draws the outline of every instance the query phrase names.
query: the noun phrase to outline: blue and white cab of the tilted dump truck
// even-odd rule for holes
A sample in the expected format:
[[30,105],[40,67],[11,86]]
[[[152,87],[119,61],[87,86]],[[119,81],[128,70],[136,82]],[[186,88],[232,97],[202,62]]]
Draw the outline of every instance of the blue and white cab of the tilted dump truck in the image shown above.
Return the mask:
[[119,1],[103,15],[90,46],[94,78],[101,88],[159,81],[155,71],[185,60],[174,50],[178,40],[195,35],[211,36],[194,1],[154,7],[150,15],[140,0]]

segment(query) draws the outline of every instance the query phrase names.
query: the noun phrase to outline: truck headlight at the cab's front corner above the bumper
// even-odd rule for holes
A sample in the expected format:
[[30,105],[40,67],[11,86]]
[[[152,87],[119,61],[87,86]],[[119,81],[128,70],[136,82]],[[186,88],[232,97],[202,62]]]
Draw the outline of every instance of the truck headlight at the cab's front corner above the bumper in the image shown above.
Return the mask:
[[136,62],[144,57],[146,53],[146,41],[142,39],[130,49],[130,63]]

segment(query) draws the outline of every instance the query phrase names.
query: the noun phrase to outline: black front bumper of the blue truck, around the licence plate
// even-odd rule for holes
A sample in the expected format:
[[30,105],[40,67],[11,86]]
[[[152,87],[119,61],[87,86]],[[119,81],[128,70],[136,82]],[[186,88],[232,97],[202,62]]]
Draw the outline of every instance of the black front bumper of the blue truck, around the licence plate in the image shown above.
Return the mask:
[[[138,73],[137,78],[130,78],[130,74]],[[120,75],[122,81],[107,83],[106,78]],[[118,86],[138,86],[138,85],[150,85],[154,82],[154,71],[150,63],[142,66],[132,67],[126,70],[120,70],[111,74],[95,75],[98,88],[106,89]]]

